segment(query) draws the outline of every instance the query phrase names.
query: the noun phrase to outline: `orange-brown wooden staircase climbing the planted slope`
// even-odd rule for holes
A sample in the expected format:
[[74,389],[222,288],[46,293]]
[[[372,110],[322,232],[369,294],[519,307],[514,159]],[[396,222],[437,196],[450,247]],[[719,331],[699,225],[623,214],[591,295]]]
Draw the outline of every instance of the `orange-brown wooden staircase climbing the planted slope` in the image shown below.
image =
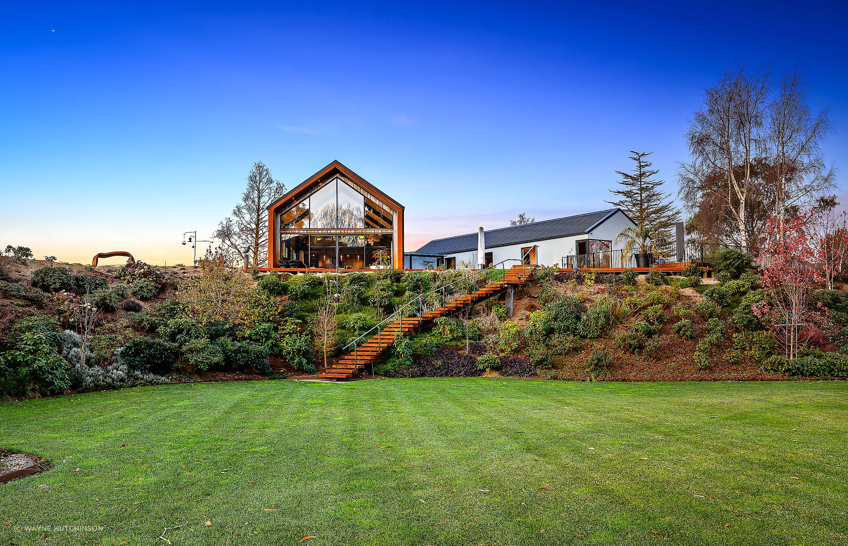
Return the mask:
[[474,292],[460,296],[442,307],[437,307],[421,317],[409,317],[389,322],[379,335],[371,337],[367,342],[355,351],[349,351],[338,359],[334,364],[324,370],[320,377],[327,379],[352,379],[365,370],[365,365],[373,364],[374,361],[390,348],[394,340],[417,331],[421,326],[426,326],[440,316],[453,315],[466,305],[473,305],[483,299],[490,298],[494,294],[505,290],[510,285],[521,285],[529,279],[536,265],[515,265],[506,271],[503,281],[491,282],[485,287],[477,288]]

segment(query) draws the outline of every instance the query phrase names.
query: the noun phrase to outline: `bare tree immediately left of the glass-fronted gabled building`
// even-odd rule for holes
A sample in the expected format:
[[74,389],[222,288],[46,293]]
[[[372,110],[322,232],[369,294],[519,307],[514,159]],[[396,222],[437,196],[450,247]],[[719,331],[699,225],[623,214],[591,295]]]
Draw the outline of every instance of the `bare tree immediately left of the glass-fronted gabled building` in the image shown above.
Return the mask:
[[242,200],[232,209],[232,217],[221,220],[213,237],[220,239],[230,253],[236,253],[252,267],[268,259],[268,206],[281,198],[286,186],[271,176],[261,161],[248,173]]

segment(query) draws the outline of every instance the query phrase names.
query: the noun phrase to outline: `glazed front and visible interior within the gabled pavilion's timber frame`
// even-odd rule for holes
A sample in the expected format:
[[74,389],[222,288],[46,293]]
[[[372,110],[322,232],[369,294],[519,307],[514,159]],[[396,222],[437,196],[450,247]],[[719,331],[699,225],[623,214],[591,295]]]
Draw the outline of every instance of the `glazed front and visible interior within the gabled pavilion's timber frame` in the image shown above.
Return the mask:
[[[281,267],[368,268],[392,264],[392,214],[334,177],[280,215]],[[292,230],[308,232],[293,233]],[[349,234],[339,230],[356,229]],[[334,233],[321,234],[321,230]],[[362,231],[365,230],[365,231]],[[316,232],[317,231],[317,232]]]

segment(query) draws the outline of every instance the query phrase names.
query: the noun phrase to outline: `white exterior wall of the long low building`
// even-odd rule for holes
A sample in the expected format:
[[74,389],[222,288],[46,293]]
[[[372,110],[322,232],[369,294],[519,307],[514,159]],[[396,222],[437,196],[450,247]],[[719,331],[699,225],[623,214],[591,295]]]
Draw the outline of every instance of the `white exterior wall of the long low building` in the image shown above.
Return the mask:
[[[492,263],[497,264],[502,259],[521,259],[522,248],[532,247],[533,244],[536,244],[538,245],[538,248],[536,249],[536,263],[538,265],[562,265],[563,256],[577,253],[578,240],[601,239],[604,241],[611,241],[613,250],[621,249],[622,244],[616,244],[616,237],[618,237],[618,234],[628,226],[635,227],[633,222],[628,220],[628,217],[619,211],[589,234],[560,237],[558,239],[547,239],[545,241],[525,242],[506,247],[486,248],[486,252],[492,253]],[[475,266],[477,265],[477,250],[445,254],[445,257],[455,258],[457,265],[459,265],[460,261],[471,262]],[[507,262],[505,265],[506,267],[510,267],[511,265],[517,264],[517,261],[511,261]]]

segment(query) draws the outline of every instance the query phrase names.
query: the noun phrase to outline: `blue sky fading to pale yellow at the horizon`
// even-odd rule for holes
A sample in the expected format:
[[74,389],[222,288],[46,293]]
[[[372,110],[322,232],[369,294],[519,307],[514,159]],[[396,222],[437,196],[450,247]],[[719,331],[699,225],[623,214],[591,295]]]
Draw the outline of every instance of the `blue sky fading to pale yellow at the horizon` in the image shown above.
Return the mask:
[[800,69],[848,168],[845,2],[125,4],[4,4],[0,246],[190,263],[256,160],[291,188],[338,159],[408,251],[605,209],[631,149],[676,192],[734,62]]

